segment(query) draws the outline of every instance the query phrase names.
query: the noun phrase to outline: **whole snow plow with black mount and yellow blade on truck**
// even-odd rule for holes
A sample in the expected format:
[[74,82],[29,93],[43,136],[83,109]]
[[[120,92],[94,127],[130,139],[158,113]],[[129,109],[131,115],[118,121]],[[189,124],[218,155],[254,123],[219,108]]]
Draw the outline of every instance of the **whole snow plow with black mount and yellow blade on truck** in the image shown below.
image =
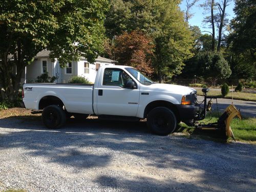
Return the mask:
[[[219,116],[217,97],[207,96],[207,93],[209,92],[208,88],[202,89],[202,92],[204,94],[204,100],[202,102],[199,102],[198,104],[200,105],[204,103],[204,106],[203,108],[201,108],[200,113],[198,114],[198,117],[195,119],[196,121],[194,125],[196,129],[217,131],[219,133],[218,136],[220,138],[227,140],[228,137],[231,137],[234,141],[236,141],[236,138],[234,137],[230,127],[230,122],[236,116],[242,120],[240,111],[236,108],[236,106],[234,106],[233,104],[230,104],[229,106],[227,106],[224,113],[221,116]],[[208,100],[208,103],[207,103],[207,99],[210,99]],[[212,115],[212,107],[211,107],[213,103],[212,99],[216,99],[218,116],[219,116],[218,121],[214,123],[208,123],[208,124],[205,124],[204,122],[198,122],[199,120],[203,120],[206,117],[207,113],[211,113]]]

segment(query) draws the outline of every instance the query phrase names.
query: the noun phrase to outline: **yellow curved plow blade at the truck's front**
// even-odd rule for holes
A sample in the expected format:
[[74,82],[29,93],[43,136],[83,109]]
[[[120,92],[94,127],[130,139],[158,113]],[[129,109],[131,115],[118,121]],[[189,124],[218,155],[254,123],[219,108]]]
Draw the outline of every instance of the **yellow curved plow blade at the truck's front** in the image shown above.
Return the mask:
[[236,139],[234,138],[234,135],[233,135],[233,132],[231,130],[231,127],[230,127],[230,122],[232,121],[232,119],[236,116],[238,116],[239,119],[242,120],[242,116],[241,116],[241,113],[240,111],[238,111],[238,109],[236,108],[236,106],[234,106],[233,104],[230,104],[224,114],[227,115],[227,118],[225,121],[225,128],[226,128],[226,136],[227,137],[232,137],[234,141],[236,141]]

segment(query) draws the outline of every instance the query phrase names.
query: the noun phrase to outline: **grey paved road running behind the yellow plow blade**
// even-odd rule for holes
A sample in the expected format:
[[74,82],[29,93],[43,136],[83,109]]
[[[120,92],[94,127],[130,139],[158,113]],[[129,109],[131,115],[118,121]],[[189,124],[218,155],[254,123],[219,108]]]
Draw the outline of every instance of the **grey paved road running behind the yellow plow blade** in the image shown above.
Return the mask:
[[[203,97],[198,96],[198,100],[202,101]],[[214,111],[217,112],[217,104],[216,99],[212,100],[214,102],[214,105],[212,105]],[[220,114],[223,113],[223,111],[227,108],[229,104],[231,104],[231,99],[217,99],[218,101],[218,107],[220,110]],[[241,101],[241,100],[233,100],[233,104],[237,107],[237,109],[240,109],[242,117],[256,117],[256,102],[254,101]]]

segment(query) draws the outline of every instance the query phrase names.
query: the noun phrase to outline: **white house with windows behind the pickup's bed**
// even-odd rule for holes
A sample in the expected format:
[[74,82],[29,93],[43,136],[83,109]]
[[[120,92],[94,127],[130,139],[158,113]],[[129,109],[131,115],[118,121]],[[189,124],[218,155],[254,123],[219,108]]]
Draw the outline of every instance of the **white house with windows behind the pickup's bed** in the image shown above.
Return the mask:
[[50,51],[43,50],[39,52],[34,61],[26,67],[22,82],[33,82],[37,76],[48,72],[49,76],[57,77],[56,82],[67,83],[72,76],[83,76],[94,83],[97,70],[100,66],[114,65],[114,60],[104,57],[98,57],[94,63],[89,63],[82,57],[78,61],[67,63],[66,68],[60,68],[58,60],[52,62],[49,57]]

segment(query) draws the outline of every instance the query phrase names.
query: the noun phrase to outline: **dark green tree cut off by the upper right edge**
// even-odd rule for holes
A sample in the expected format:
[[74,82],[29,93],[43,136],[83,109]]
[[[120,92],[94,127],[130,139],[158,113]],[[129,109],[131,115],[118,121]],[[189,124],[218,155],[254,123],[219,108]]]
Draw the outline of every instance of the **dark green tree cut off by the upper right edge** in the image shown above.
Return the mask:
[[233,68],[242,73],[240,78],[256,77],[256,3],[253,0],[236,1],[236,17],[231,20],[227,44],[232,52]]

